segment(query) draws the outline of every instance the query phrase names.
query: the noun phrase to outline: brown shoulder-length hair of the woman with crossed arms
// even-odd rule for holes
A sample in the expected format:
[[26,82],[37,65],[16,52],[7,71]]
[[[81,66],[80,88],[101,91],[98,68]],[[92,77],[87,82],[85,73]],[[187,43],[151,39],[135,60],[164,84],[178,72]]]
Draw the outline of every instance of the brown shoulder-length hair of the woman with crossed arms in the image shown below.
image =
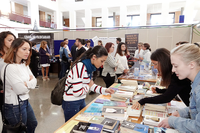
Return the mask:
[[26,42],[30,45],[30,53],[29,53],[28,59],[26,59],[26,60],[22,59],[21,63],[25,62],[26,65],[29,65],[30,61],[31,61],[30,58],[31,58],[31,55],[32,55],[32,49],[31,49],[32,46],[31,46],[31,43],[28,40],[21,39],[21,38],[17,38],[12,42],[11,47],[8,50],[8,54],[6,55],[4,62],[8,63],[8,64],[16,63],[17,51]]

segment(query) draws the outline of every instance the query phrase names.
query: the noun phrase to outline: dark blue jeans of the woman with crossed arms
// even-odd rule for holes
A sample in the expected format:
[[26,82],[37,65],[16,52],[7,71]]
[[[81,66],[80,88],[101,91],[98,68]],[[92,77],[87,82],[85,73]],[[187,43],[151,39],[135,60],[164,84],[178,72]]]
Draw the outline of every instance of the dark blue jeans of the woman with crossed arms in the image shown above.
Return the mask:
[[[27,127],[28,133],[34,133],[37,127],[37,120],[28,100],[20,102],[22,122]],[[10,125],[15,125],[20,121],[19,105],[5,104],[5,118]]]

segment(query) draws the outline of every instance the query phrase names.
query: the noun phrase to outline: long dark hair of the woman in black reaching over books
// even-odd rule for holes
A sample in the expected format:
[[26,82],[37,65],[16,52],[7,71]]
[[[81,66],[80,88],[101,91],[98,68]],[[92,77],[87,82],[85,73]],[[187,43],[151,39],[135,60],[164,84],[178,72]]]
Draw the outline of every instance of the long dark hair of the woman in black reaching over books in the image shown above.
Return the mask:
[[156,51],[151,54],[151,60],[158,61],[158,67],[162,75],[161,85],[168,87],[172,76],[170,51],[165,48],[156,49]]

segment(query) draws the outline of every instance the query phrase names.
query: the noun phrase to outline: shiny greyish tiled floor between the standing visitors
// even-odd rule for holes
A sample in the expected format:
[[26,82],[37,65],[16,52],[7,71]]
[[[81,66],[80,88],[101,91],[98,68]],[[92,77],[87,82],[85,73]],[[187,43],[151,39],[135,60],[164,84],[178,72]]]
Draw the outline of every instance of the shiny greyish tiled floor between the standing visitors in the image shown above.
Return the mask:
[[[42,81],[38,77],[39,89],[30,91],[30,104],[35,112],[38,126],[36,133],[53,133],[56,129],[64,124],[64,114],[61,106],[51,104],[50,95],[58,78],[56,75],[51,75],[50,81]],[[102,78],[97,78],[95,83],[105,87]],[[96,98],[99,94],[87,95],[85,99],[86,104]],[[2,125],[0,121],[0,125]],[[1,131],[1,127],[0,127]]]

